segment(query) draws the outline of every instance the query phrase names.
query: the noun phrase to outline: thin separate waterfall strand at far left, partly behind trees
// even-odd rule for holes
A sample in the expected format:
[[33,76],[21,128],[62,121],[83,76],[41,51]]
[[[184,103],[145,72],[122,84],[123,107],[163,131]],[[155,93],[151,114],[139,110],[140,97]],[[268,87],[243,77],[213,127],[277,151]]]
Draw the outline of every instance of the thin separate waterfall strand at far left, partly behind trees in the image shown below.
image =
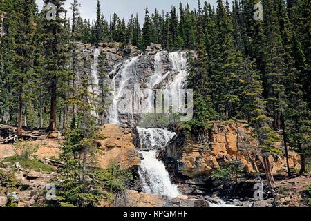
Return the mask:
[[[91,102],[95,102],[97,100],[97,96],[100,93],[99,90],[99,75],[98,75],[98,57],[100,57],[100,49],[95,48],[94,50],[94,58],[93,58],[93,64],[91,65],[91,75],[89,77],[90,79],[90,87],[89,87],[89,91],[92,95],[92,99],[93,101]],[[96,102],[95,102],[96,103]],[[98,119],[98,113],[96,111],[96,108],[93,110],[93,115]]]

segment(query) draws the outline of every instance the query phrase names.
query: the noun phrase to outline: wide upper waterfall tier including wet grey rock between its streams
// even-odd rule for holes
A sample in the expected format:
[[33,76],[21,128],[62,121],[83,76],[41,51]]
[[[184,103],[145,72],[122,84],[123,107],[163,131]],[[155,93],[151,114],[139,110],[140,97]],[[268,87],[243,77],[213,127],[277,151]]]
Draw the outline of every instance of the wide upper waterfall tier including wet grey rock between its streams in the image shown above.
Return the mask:
[[[185,89],[187,84],[187,52],[167,52],[160,45],[116,64],[109,74],[111,107],[109,124],[137,125],[144,113],[154,113],[155,89]],[[177,91],[173,96],[177,96]]]

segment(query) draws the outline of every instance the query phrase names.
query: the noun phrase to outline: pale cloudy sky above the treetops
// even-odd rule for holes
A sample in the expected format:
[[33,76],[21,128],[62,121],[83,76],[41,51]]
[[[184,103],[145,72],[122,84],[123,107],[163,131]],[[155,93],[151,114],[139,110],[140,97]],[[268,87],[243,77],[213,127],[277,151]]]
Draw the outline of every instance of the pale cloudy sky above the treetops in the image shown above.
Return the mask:
[[[66,0],[65,8],[67,10],[69,10],[71,1],[72,0]],[[146,6],[150,14],[154,12],[156,8],[160,12],[162,12],[162,10],[167,12],[171,10],[171,6],[176,6],[178,8],[180,1],[184,6],[188,2],[191,8],[196,8],[198,3],[197,0],[100,0],[100,4],[104,17],[107,19],[115,12],[120,18],[124,18],[128,21],[131,15],[135,15],[137,12],[138,18],[142,23],[144,21],[144,8],[146,8]],[[39,10],[41,10],[43,2],[43,0],[37,0]],[[79,0],[78,2],[81,4],[79,12],[82,17],[90,19],[91,21],[95,19],[97,0]],[[201,0],[201,2],[203,2],[203,0]],[[209,2],[215,5],[216,0],[209,0]]]

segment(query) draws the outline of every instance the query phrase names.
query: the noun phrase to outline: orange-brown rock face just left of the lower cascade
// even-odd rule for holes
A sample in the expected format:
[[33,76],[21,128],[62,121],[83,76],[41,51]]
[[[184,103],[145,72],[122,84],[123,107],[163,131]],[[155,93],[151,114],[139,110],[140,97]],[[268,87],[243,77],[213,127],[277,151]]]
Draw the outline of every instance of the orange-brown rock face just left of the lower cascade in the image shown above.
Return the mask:
[[117,125],[105,125],[100,133],[106,137],[97,141],[104,152],[98,156],[101,168],[117,163],[124,169],[140,166],[140,155],[133,144],[131,129],[120,129]]

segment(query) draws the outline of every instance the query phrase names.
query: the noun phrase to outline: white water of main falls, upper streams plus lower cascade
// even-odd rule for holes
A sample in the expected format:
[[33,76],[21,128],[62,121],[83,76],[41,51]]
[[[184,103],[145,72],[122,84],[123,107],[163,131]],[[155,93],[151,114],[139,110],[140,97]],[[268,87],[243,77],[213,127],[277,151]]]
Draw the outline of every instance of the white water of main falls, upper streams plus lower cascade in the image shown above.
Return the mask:
[[[145,86],[149,89],[147,94],[140,95],[140,113],[150,113],[153,110],[153,89],[156,85],[167,79],[170,73],[177,73],[175,77],[171,76],[172,80],[165,83],[169,88],[183,88],[187,81],[187,53],[186,52],[170,52],[169,59],[171,70],[164,71],[165,52],[158,52],[155,55],[154,73],[148,77]],[[166,52],[167,53],[167,52]],[[113,98],[109,111],[109,123],[120,125],[120,113],[133,113],[132,110],[126,110],[120,100],[124,102],[124,97],[128,95],[128,88],[133,87],[133,84],[138,83],[137,68],[135,64],[140,56],[126,60],[123,64],[119,64],[113,70],[112,88]],[[131,86],[129,85],[131,84]],[[126,101],[131,99],[126,97]],[[142,160],[139,175],[143,184],[143,191],[146,193],[167,195],[171,198],[180,195],[178,187],[171,183],[169,173],[165,169],[163,162],[157,159],[158,150],[164,148],[167,143],[173,138],[175,133],[162,128],[137,128],[140,135],[141,155]]]

